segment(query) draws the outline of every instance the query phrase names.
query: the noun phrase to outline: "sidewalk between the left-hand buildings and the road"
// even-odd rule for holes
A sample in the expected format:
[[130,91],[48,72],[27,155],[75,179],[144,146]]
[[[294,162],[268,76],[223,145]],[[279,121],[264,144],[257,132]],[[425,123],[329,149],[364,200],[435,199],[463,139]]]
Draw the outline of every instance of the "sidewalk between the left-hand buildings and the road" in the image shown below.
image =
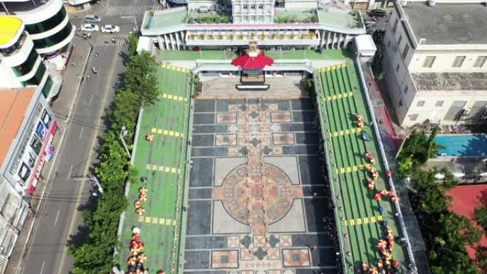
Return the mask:
[[[91,51],[91,46],[83,40],[75,36],[73,38],[73,53],[71,54],[69,64],[66,64],[66,70],[62,73],[63,85],[59,91],[58,98],[51,104],[53,112],[58,120],[58,130],[53,139],[53,146],[56,147],[56,155],[53,161],[46,162],[42,169],[40,179],[38,181],[36,192],[34,196],[41,197],[46,191],[47,182],[51,177],[53,169],[56,169],[56,162],[58,159],[58,152],[63,145],[63,136],[66,133],[66,122],[73,109],[73,102],[78,93],[78,88],[81,83],[86,62]],[[71,63],[75,62],[73,67]],[[23,223],[23,228],[19,234],[19,238],[14,246],[9,262],[6,265],[5,273],[19,274],[22,272],[23,265],[21,262],[26,257],[27,246],[31,241],[32,231],[36,226],[37,216],[41,215],[42,211],[42,199],[31,199],[31,207],[35,209],[36,216],[27,216],[26,221]]]

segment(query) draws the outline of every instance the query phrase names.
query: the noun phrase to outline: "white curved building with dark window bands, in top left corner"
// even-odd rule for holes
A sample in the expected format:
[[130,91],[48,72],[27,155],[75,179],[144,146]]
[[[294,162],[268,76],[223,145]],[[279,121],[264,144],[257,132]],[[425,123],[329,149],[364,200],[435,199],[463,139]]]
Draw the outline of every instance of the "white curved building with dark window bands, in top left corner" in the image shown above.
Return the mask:
[[[25,25],[33,46],[56,68],[63,68],[75,34],[62,0],[1,0],[0,15],[15,15]],[[3,25],[2,25],[3,26]]]

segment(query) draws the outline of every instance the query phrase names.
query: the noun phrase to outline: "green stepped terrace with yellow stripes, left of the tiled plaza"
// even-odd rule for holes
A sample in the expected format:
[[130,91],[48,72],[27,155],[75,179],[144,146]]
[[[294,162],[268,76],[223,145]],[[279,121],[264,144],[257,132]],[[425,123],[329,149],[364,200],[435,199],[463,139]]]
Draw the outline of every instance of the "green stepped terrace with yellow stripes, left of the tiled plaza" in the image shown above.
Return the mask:
[[[140,241],[145,243],[142,251],[147,255],[145,267],[151,273],[157,270],[176,273],[187,173],[191,74],[185,68],[162,65],[157,78],[159,99],[144,107],[137,128],[133,160],[138,178],[130,182],[118,260],[122,269],[127,270],[132,228],[137,226],[141,229]],[[145,139],[148,134],[154,136],[152,142]],[[139,179],[142,176],[147,177],[146,185]],[[138,215],[135,201],[142,186],[147,187],[147,201],[141,203],[145,213]]]

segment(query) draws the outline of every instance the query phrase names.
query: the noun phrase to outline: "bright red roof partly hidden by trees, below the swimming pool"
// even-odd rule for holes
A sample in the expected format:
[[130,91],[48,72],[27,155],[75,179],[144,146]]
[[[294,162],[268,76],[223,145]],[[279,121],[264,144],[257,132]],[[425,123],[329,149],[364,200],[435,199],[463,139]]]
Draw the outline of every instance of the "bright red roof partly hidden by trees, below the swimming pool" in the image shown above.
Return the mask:
[[[451,201],[451,210],[457,214],[466,216],[471,221],[475,221],[475,209],[483,203],[487,206],[487,184],[476,184],[469,186],[456,186],[451,189],[448,195],[453,197]],[[480,228],[480,226],[478,226]],[[482,234],[481,246],[487,246],[486,234]],[[475,247],[466,246],[470,258],[475,259]]]

